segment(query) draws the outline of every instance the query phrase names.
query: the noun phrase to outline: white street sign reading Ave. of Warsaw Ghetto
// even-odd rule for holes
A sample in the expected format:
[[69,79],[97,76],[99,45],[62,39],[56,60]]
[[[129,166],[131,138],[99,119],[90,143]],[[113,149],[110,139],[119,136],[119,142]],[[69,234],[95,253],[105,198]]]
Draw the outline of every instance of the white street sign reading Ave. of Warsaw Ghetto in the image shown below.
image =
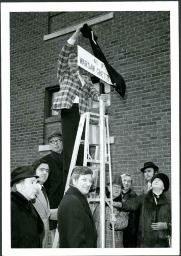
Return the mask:
[[104,63],[94,55],[85,51],[82,47],[77,46],[78,66],[99,77],[101,80],[111,84],[110,77],[107,73]]

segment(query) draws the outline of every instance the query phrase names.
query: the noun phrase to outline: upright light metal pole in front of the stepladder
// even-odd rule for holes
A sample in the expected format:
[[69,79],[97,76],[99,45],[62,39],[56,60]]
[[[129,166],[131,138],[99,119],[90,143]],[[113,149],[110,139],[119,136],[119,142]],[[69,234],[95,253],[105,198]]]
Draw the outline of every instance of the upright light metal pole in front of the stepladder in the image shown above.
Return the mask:
[[105,140],[104,101],[99,102],[100,114],[100,245],[105,248]]

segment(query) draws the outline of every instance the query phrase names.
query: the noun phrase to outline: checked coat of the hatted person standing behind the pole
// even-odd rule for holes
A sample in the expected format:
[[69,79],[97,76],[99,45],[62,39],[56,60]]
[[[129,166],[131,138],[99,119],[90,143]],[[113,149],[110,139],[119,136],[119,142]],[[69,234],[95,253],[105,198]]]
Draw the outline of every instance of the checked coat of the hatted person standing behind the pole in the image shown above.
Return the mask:
[[[116,207],[114,207],[114,212],[116,214],[117,222],[115,226],[115,247],[116,248],[123,248],[123,231],[122,229],[127,227],[128,225],[128,212],[119,211]],[[94,211],[94,220],[96,224],[96,229],[98,232],[98,240],[97,240],[97,247],[100,247],[100,204],[98,204],[96,210]],[[106,227],[105,227],[105,236],[106,236],[106,242],[105,247],[106,248],[112,248],[112,229],[110,224],[110,216],[111,216],[111,210],[109,206],[106,206],[105,209],[105,219],[106,219]]]

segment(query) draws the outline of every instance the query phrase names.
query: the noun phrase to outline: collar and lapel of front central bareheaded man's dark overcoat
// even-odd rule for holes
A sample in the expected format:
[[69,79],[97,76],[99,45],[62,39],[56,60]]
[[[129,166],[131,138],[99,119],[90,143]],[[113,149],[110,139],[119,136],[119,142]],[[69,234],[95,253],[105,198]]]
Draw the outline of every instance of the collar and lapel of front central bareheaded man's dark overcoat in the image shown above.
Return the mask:
[[93,219],[93,215],[92,215],[92,212],[90,211],[90,207],[88,205],[88,202],[87,202],[87,198],[85,195],[83,195],[78,188],[74,187],[74,186],[71,186],[70,185],[70,188],[66,191],[65,194],[69,194],[69,195],[74,195],[76,196],[82,203],[82,205],[84,206],[87,214],[89,215],[89,217],[91,219]]

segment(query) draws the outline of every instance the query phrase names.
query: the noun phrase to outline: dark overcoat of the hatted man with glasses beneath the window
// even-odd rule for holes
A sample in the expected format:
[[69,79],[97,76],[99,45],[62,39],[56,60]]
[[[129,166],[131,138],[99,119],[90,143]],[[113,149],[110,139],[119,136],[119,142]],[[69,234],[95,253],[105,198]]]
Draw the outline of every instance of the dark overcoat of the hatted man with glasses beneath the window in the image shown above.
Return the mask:
[[[63,183],[63,152],[61,154],[52,151],[42,159],[46,160],[50,166],[50,174],[47,181],[43,184],[46,188],[50,208],[58,208],[58,205],[64,194]],[[50,220],[50,229],[57,227],[57,221]]]

